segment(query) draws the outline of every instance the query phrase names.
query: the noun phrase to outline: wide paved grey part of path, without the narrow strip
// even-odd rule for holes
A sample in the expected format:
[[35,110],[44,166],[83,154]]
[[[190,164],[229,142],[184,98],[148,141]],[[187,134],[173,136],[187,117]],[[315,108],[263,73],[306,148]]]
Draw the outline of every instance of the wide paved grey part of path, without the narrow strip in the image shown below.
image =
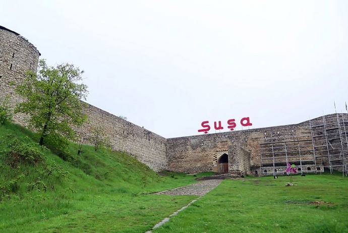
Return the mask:
[[218,186],[221,182],[222,180],[201,181],[193,185],[179,187],[176,189],[163,191],[157,194],[204,196],[205,194],[213,190],[216,186]]

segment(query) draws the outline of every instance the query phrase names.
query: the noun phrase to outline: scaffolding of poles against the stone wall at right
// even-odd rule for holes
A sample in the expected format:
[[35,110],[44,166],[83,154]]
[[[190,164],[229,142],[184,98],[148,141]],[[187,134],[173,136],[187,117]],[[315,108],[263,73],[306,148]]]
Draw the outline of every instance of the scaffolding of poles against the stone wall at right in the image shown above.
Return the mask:
[[342,171],[348,176],[348,114],[323,115],[309,121],[301,134],[265,132],[260,142],[261,176],[283,174],[286,162],[303,172]]

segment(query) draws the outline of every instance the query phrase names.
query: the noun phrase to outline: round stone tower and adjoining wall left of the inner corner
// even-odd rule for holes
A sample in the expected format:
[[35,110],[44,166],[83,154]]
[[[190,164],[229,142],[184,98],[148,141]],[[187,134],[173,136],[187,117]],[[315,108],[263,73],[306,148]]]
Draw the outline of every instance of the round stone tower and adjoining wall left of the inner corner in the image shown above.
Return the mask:
[[[37,70],[39,55],[27,39],[0,26],[0,100],[10,96],[12,106],[22,101],[14,90],[28,70]],[[100,126],[114,150],[129,153],[155,171],[166,169],[165,138],[89,104],[84,112],[88,122],[77,129],[83,137],[87,139],[91,129]],[[15,115],[14,121],[25,125],[25,115]]]

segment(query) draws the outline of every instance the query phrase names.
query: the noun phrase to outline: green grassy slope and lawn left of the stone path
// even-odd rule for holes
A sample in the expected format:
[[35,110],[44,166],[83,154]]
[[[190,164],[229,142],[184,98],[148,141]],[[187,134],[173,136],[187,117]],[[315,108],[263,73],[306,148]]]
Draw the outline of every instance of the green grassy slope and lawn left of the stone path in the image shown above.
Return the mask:
[[122,152],[83,145],[77,155],[73,143],[63,152],[37,142],[21,126],[0,126],[0,232],[142,232],[193,199],[142,194],[192,176],[160,176]]

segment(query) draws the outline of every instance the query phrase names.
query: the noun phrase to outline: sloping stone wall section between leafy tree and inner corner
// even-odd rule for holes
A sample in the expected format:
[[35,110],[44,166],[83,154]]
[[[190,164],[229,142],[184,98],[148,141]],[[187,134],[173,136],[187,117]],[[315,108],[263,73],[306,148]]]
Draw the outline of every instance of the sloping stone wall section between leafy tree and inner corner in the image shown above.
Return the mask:
[[83,137],[88,139],[91,129],[99,126],[110,138],[113,149],[136,157],[155,171],[166,169],[165,138],[90,104],[84,112],[88,120],[80,132]]

